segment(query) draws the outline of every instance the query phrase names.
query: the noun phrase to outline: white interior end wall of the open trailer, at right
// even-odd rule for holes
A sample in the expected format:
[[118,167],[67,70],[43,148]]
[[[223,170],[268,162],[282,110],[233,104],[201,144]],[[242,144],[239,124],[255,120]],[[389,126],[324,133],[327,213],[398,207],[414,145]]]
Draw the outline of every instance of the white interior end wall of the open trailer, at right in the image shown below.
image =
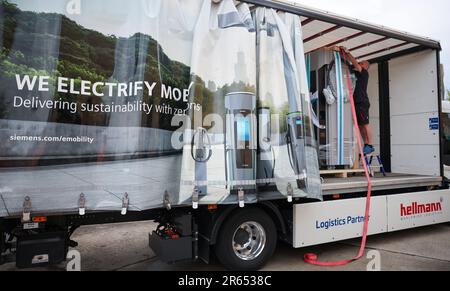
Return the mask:
[[389,61],[392,172],[440,175],[436,51]]

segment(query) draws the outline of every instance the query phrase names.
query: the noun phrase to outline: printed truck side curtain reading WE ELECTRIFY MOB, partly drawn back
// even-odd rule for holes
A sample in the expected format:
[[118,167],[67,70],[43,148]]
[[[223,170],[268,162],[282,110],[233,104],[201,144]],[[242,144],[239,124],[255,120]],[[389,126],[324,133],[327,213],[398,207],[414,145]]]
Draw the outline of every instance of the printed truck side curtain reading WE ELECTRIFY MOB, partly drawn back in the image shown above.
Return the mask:
[[295,15],[2,0],[0,216],[320,200],[307,84]]

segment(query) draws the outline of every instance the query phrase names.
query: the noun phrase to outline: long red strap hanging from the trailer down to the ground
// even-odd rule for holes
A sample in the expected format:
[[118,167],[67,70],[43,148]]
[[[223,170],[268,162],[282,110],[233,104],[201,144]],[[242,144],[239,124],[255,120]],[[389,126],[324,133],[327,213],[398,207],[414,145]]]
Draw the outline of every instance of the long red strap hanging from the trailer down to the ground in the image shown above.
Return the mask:
[[[346,56],[345,52],[342,52],[342,55],[344,57],[345,62],[347,63],[347,56]],[[359,152],[361,154],[361,157],[364,157],[364,150],[363,150],[363,146],[362,146],[362,142],[361,142],[361,133],[359,131],[358,118],[357,118],[356,109],[355,109],[355,100],[353,98],[353,88],[352,88],[352,83],[350,80],[350,69],[348,68],[348,66],[347,66],[346,72],[347,72],[347,87],[348,87],[348,91],[350,94],[350,103],[352,105],[353,122],[355,125]],[[322,267],[336,267],[336,266],[343,266],[343,265],[347,265],[349,263],[353,263],[354,261],[357,261],[360,258],[362,258],[362,256],[364,255],[364,250],[366,248],[366,242],[367,242],[367,232],[369,230],[369,214],[370,214],[370,198],[372,195],[372,180],[370,177],[370,172],[369,172],[369,168],[366,163],[366,159],[362,158],[362,160],[363,160],[363,165],[364,165],[364,171],[366,173],[368,189],[367,189],[367,198],[366,198],[366,212],[365,212],[365,216],[364,216],[363,237],[362,237],[361,247],[359,249],[358,255],[351,260],[344,260],[344,261],[339,261],[339,262],[319,262],[316,254],[305,254],[304,261],[306,263],[315,265],[315,266],[322,266]]]

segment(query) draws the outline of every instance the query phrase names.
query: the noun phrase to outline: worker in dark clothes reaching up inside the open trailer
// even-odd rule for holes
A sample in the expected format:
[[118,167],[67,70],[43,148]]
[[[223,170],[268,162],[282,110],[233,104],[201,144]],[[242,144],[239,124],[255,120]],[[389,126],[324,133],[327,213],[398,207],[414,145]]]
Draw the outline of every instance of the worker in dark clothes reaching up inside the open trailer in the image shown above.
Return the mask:
[[356,74],[357,80],[353,99],[355,100],[359,129],[365,143],[364,154],[370,155],[375,152],[372,142],[372,127],[369,119],[370,101],[369,95],[367,94],[370,63],[368,61],[358,62],[346,47],[339,47],[339,50],[347,55],[348,60],[353,64],[353,69]]

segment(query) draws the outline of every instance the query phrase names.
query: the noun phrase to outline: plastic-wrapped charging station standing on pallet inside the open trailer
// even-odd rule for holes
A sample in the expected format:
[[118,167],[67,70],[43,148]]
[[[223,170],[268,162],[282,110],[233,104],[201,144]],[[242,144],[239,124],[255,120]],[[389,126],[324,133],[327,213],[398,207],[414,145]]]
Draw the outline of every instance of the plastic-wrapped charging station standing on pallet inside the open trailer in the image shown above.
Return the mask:
[[[348,82],[353,86],[356,77],[337,52],[319,50],[307,56],[309,73],[314,74],[318,99],[313,106],[320,124],[317,129],[319,160],[323,168],[353,167],[357,162],[357,145],[348,96]],[[350,75],[348,72],[351,72]],[[320,78],[320,76],[323,76]]]

